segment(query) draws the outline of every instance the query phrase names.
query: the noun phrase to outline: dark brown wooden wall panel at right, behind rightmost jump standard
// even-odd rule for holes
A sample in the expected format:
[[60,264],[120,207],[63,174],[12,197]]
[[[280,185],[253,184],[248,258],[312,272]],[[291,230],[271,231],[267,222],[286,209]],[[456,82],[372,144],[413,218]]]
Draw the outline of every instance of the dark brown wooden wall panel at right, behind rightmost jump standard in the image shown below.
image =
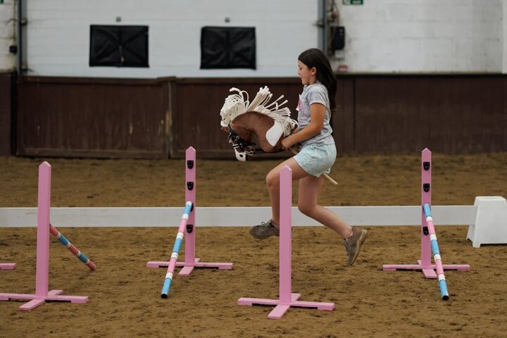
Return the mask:
[[353,82],[354,151],[507,151],[505,76],[360,76]]

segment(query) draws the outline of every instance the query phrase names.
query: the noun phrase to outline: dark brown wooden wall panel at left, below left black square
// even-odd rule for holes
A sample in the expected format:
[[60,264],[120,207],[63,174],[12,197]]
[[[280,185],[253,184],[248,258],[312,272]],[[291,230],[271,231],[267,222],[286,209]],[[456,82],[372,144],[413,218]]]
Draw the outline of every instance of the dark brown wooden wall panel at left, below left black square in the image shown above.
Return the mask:
[[20,77],[21,156],[167,158],[170,80]]

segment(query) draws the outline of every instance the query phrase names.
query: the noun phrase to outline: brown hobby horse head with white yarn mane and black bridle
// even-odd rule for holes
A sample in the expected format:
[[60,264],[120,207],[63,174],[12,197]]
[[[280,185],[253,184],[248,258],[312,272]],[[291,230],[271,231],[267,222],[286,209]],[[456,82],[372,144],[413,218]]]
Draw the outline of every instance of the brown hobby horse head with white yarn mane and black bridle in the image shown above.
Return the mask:
[[[296,120],[290,118],[287,100],[278,103],[283,95],[269,103],[273,94],[268,87],[259,89],[253,101],[249,101],[247,92],[231,88],[230,92],[237,92],[225,98],[220,109],[220,126],[229,132],[227,142],[232,144],[238,161],[249,161],[254,154],[273,153],[283,151],[280,142],[297,127]],[[257,144],[252,142],[256,137]]]

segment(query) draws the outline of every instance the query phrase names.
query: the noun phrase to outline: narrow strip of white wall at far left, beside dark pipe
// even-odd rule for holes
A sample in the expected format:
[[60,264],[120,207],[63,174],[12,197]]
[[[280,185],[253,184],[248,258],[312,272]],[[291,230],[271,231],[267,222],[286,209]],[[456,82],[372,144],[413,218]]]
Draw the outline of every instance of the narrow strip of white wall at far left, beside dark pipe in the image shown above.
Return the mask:
[[15,70],[16,56],[9,52],[9,46],[16,43],[15,38],[15,0],[4,0],[0,4],[0,73]]

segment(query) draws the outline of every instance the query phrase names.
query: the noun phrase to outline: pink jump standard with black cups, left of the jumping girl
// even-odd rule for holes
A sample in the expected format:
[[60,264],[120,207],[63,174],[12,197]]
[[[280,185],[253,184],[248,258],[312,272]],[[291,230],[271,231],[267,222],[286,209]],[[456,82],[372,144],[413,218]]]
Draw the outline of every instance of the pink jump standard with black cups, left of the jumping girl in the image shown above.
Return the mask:
[[[184,230],[184,242],[185,242],[185,261],[184,262],[173,262],[175,266],[182,266],[183,268],[178,273],[179,276],[189,276],[194,268],[218,268],[220,270],[230,270],[232,269],[232,263],[204,263],[199,261],[199,258],[195,256],[195,233],[196,233],[196,223],[195,223],[195,215],[196,215],[196,150],[191,146],[187,149],[185,153],[185,180],[186,180],[186,189],[185,189],[185,201],[187,204],[190,203],[192,206],[192,212],[189,212],[187,215],[188,219],[185,221],[182,230]],[[182,223],[180,223],[180,227],[182,227]],[[179,246],[178,246],[179,251]],[[174,253],[174,251],[173,251]],[[173,256],[173,255],[172,255]],[[176,258],[177,259],[177,253]],[[168,268],[168,273],[170,273],[170,265],[171,261],[175,261],[175,259],[171,259],[170,261],[149,261],[146,263],[147,268]],[[174,270],[174,268],[173,268]],[[167,275],[166,275],[167,277]],[[173,275],[171,273],[170,279],[172,281]],[[169,290],[167,289],[167,292]],[[162,292],[162,298],[167,298],[168,294]]]

